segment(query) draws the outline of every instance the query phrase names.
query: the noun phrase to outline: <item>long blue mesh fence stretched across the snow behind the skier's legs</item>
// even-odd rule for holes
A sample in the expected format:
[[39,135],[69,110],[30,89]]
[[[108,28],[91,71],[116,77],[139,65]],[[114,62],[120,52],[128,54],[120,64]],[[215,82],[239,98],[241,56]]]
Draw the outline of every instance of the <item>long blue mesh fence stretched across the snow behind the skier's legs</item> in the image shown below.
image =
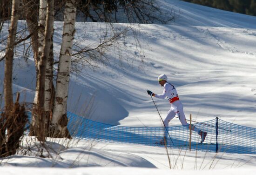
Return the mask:
[[[67,127],[73,137],[102,142],[161,146],[155,142],[162,139],[165,129],[162,127],[113,126],[88,120],[70,112],[67,113],[67,117],[69,120]],[[203,143],[200,143],[200,135],[192,131],[191,149],[256,154],[256,128],[244,127],[220,119],[193,125],[206,131],[207,137]],[[168,147],[189,148],[189,129],[187,127],[168,127],[168,132],[170,135],[170,138],[167,139]]]

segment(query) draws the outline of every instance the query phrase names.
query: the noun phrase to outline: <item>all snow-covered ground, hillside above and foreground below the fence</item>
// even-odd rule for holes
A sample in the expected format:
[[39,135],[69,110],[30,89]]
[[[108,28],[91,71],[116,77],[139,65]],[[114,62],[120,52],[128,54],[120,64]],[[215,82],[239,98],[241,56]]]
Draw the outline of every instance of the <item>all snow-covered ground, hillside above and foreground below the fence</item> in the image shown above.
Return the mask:
[[[179,0],[161,0],[165,9],[174,9],[175,21],[167,25],[134,24],[121,40],[121,52],[109,50],[111,60],[95,71],[86,68],[72,74],[68,109],[104,123],[144,127],[161,126],[158,113],[145,89],[162,93],[157,76],[167,74],[179,93],[187,116],[208,121],[222,120],[256,128],[256,17],[203,7]],[[54,49],[60,49],[61,22],[55,23]],[[23,25],[20,21],[20,27]],[[80,46],[96,45],[104,30],[101,23],[76,23],[75,41]],[[7,36],[7,24],[0,40]],[[114,24],[120,30],[126,24]],[[4,48],[0,45],[0,49]],[[21,91],[22,101],[33,101],[35,72],[33,57],[27,63],[19,48],[13,69],[13,91]],[[120,60],[117,55],[121,54]],[[114,59],[115,58],[115,59]],[[143,62],[141,61],[143,60]],[[3,61],[0,62],[0,94]],[[2,98],[2,96],[0,96]],[[84,113],[94,97],[90,114]],[[169,108],[167,100],[154,99],[162,116]],[[0,105],[1,104],[0,102]],[[170,125],[180,125],[173,119]],[[53,143],[54,148],[58,144]],[[75,142],[75,141],[74,141]],[[49,144],[50,144],[49,143]],[[62,144],[59,144],[59,146]],[[195,152],[168,149],[171,167],[186,169],[182,174],[253,174],[255,155]],[[170,173],[164,148],[132,144],[79,141],[61,150],[61,157],[40,158],[14,155],[2,160],[2,174],[155,174]],[[176,164],[175,164],[176,162]],[[74,166],[73,166],[74,165]],[[12,166],[11,168],[8,166]],[[18,167],[144,167],[144,168],[13,168]],[[161,168],[161,170],[148,169]],[[199,169],[224,169],[194,171]],[[236,168],[239,168],[237,170]],[[246,169],[245,169],[246,168]],[[164,170],[166,169],[166,170]],[[189,171],[193,170],[193,171]],[[174,174],[181,171],[173,170]]]

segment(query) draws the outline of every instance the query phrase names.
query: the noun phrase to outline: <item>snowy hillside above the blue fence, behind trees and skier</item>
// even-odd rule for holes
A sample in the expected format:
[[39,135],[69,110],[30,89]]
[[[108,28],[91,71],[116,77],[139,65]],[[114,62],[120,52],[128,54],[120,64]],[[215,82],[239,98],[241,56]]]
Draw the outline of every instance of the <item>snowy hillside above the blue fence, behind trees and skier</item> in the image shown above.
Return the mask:
[[[99,64],[100,68],[95,71],[86,68],[79,74],[72,74],[69,111],[109,124],[160,126],[145,89],[162,93],[156,79],[159,74],[167,74],[178,90],[186,115],[192,114],[198,121],[219,116],[226,121],[256,127],[252,122],[256,111],[256,17],[178,0],[160,2],[162,8],[174,8],[179,14],[175,22],[134,24],[140,45],[129,32],[119,46],[124,47],[122,60],[113,48],[108,51],[112,59],[107,66]],[[20,22],[20,27],[22,25]],[[114,24],[119,30],[125,25]],[[61,22],[55,23],[56,53],[60,50],[61,26]],[[94,46],[104,34],[101,29],[104,27],[102,23],[76,23],[75,41],[80,46]],[[6,36],[7,30],[1,34],[2,38]],[[18,50],[20,58],[23,51]],[[0,67],[0,77],[3,77],[3,62]],[[16,60],[13,76],[13,91],[22,91],[25,101],[33,101],[32,56],[27,63]],[[92,97],[94,105],[87,114],[84,109]],[[164,116],[168,102],[155,100]],[[171,124],[179,124],[179,121],[173,120]]]

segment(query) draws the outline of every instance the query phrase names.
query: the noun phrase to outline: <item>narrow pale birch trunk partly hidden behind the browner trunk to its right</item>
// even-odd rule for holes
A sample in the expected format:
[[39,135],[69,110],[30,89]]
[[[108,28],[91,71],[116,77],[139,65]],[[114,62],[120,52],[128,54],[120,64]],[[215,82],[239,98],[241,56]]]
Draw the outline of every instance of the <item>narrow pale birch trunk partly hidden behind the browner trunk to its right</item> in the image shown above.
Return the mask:
[[[43,52],[44,45],[44,33],[45,33],[45,23],[46,23],[46,13],[47,13],[47,0],[40,0],[39,6],[39,26],[38,26],[38,50],[36,51],[37,60],[35,60],[35,69],[36,69],[36,88],[35,88],[35,96],[34,96],[34,106],[32,112],[32,121],[30,126],[29,135],[37,135],[36,130],[38,130],[37,123],[39,123],[39,117],[37,114],[37,101],[38,101],[38,74],[39,74],[39,63],[41,60],[41,55]],[[37,18],[36,18],[37,19]]]

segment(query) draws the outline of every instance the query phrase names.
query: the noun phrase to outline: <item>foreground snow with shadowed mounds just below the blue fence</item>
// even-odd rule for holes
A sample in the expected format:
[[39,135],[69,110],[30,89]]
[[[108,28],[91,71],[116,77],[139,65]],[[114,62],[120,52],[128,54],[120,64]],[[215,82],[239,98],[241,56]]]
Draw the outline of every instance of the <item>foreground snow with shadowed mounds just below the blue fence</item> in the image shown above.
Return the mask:
[[[28,139],[25,139],[26,141]],[[69,140],[67,140],[69,141]],[[27,144],[30,149],[26,155],[13,155],[1,160],[1,166],[34,167],[34,168],[79,168],[79,167],[134,167],[169,169],[165,148],[102,143],[96,141],[78,141],[69,143],[63,139],[47,141],[50,149],[41,152],[37,144]],[[25,145],[25,144],[24,144]],[[64,147],[66,146],[66,147]],[[68,146],[68,148],[67,148]],[[27,147],[28,148],[28,147]],[[58,153],[58,154],[57,154]],[[255,168],[255,155],[200,152],[168,148],[170,166],[176,170],[209,170],[230,168]],[[37,156],[35,156],[37,155]],[[49,158],[50,157],[50,158]],[[115,171],[115,170],[114,170]],[[93,173],[92,173],[93,174]]]

